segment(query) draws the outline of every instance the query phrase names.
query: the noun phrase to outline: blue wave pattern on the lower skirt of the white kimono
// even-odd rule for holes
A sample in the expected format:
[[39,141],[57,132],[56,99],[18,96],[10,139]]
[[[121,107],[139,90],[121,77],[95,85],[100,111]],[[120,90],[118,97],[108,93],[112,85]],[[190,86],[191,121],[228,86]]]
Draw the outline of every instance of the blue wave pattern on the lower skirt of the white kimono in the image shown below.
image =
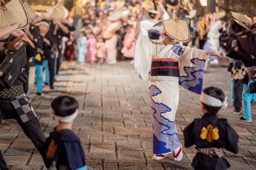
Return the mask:
[[152,123],[153,126],[153,152],[155,154],[168,153],[179,147],[178,132],[174,121],[170,121],[163,116],[166,112],[172,109],[164,103],[158,103],[152,97],[161,94],[161,90],[151,85],[149,88],[151,96],[150,107],[152,109]]

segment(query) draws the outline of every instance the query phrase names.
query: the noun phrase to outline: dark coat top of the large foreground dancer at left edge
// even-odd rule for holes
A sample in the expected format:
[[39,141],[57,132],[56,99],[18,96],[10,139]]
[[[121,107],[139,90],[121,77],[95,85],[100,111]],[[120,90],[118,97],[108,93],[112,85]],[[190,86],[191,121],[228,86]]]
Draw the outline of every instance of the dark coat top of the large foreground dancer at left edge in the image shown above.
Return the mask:
[[[2,42],[14,40],[15,37],[9,36],[8,39]],[[0,77],[0,90],[1,88],[10,88],[11,86],[23,84],[28,81],[28,74],[25,72],[25,66],[28,62],[26,56],[26,45],[24,45],[15,52],[9,52],[6,55],[4,52],[0,53],[0,70],[4,73]]]

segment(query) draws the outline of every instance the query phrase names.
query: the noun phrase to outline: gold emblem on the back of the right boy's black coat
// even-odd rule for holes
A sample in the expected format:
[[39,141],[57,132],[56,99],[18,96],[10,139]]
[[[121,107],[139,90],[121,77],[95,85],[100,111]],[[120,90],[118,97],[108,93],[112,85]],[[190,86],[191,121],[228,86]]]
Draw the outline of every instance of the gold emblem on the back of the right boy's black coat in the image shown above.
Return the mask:
[[201,130],[201,139],[206,139],[208,142],[219,139],[219,129],[217,127],[213,128],[211,124],[207,126],[207,129],[204,127]]

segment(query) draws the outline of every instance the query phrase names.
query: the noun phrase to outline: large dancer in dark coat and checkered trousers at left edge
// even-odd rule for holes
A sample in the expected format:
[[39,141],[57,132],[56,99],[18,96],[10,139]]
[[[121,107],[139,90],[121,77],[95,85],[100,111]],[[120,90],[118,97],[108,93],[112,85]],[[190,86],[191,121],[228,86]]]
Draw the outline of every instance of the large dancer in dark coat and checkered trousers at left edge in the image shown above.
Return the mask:
[[[0,41],[7,44],[17,39],[9,36]],[[17,51],[7,47],[4,51],[0,51],[0,123],[2,119],[15,119],[26,136],[42,153],[45,142],[44,132],[23,89],[23,84],[28,81],[28,75],[25,72],[28,62],[25,45],[23,44]],[[0,160],[1,165],[5,165],[5,167],[0,166],[1,169],[7,168],[3,162],[3,159]]]

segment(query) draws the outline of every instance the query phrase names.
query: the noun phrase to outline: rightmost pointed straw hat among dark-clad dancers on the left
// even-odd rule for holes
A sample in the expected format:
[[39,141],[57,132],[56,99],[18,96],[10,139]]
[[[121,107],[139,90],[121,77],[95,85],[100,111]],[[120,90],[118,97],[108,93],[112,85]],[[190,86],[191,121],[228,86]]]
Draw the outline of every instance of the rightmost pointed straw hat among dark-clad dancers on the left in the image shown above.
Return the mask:
[[62,3],[57,3],[55,6],[53,6],[52,9],[48,10],[46,12],[45,17],[46,18],[56,18],[56,19],[62,19],[66,16],[66,10],[65,6]]

